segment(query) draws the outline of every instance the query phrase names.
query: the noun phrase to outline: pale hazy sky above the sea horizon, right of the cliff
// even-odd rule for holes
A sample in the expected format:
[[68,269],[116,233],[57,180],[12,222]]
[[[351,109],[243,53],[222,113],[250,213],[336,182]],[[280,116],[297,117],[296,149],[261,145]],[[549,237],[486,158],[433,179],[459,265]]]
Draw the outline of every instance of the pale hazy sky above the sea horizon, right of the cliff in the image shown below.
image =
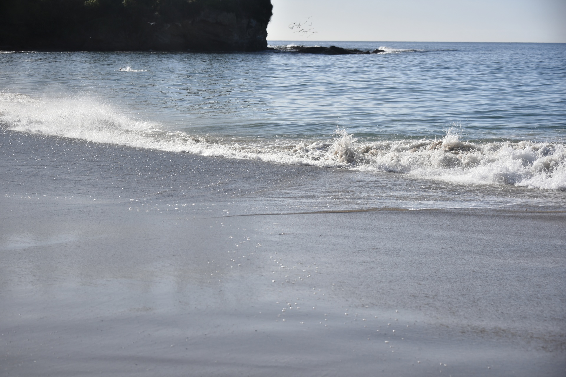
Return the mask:
[[[566,0],[272,0],[268,40],[566,42]],[[316,34],[289,29],[302,23]]]

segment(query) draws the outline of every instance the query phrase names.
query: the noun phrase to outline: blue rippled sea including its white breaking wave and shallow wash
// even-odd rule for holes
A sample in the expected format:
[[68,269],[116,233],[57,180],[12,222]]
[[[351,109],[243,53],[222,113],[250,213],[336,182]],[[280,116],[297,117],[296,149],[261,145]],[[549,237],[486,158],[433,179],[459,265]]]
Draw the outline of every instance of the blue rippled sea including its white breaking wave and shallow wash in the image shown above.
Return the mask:
[[324,179],[295,190],[312,208],[564,209],[565,44],[269,44],[276,51],[6,51],[0,124],[354,174],[338,197]]

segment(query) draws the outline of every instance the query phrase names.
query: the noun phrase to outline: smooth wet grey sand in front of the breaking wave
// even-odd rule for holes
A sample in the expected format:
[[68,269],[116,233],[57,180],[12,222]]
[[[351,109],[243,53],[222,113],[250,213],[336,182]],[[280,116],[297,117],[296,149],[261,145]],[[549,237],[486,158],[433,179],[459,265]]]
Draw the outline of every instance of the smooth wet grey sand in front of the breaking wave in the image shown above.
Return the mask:
[[0,135],[0,375],[566,371],[564,213],[289,215],[340,172]]

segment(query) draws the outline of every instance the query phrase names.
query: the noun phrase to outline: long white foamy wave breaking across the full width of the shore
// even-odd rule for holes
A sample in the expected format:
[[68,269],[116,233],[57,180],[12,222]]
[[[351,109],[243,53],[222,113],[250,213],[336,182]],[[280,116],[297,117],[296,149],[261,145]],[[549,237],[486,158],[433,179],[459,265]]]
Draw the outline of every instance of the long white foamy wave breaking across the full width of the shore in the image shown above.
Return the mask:
[[326,140],[211,138],[138,122],[91,98],[33,99],[0,93],[0,123],[14,131],[138,148],[359,171],[387,171],[459,184],[566,189],[566,145],[559,142],[466,142],[440,138],[360,142],[337,129]]

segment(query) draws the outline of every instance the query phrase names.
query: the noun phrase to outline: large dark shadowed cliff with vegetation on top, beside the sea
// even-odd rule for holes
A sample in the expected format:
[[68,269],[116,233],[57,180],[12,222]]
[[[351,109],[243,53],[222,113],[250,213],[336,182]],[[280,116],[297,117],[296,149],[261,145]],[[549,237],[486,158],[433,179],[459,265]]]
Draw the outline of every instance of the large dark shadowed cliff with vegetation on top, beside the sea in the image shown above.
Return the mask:
[[0,0],[0,49],[258,51],[271,0]]

